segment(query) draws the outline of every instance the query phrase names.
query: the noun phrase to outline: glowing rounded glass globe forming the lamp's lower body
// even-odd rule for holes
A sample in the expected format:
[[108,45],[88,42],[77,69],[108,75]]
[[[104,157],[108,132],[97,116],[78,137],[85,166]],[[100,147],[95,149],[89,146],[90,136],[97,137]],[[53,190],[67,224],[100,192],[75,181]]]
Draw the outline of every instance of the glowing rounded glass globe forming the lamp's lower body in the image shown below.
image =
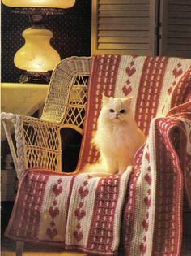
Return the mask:
[[25,44],[14,58],[15,66],[30,72],[48,72],[61,61],[49,44],[53,33],[48,29],[28,28],[23,31]]

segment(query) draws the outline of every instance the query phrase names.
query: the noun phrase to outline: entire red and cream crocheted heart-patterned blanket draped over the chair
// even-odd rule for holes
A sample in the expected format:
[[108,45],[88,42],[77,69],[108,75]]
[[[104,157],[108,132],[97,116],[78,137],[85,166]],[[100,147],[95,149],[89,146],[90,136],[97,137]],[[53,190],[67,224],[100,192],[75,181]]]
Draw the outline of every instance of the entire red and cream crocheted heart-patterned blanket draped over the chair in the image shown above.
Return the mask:
[[179,255],[184,187],[191,206],[191,60],[91,58],[79,173],[99,158],[91,137],[102,93],[134,96],[147,138],[133,166],[106,177],[25,171],[6,236],[96,255]]

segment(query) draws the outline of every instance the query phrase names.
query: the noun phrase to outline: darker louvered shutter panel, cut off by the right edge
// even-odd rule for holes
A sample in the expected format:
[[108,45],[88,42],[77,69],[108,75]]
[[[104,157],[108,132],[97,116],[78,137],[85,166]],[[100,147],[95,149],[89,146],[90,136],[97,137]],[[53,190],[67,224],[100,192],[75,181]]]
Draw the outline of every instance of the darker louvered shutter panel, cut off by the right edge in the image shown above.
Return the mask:
[[161,0],[159,54],[191,58],[191,0]]

